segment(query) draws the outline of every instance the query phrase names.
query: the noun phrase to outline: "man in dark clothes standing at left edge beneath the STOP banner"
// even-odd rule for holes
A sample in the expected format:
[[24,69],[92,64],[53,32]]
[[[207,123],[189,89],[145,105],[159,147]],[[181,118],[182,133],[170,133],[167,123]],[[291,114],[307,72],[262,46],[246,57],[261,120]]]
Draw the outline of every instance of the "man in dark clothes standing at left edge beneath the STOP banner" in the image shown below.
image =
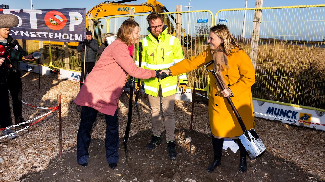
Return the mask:
[[[21,53],[23,56],[26,55],[24,49],[19,45],[16,39],[13,39],[9,35],[9,28],[1,28],[0,29],[0,44],[1,45],[9,45],[14,50]],[[25,122],[21,114],[21,92],[22,92],[22,83],[21,83],[21,74],[19,68],[18,59],[12,59],[11,65],[16,71],[11,71],[6,75],[7,86],[10,90],[11,98],[12,98],[12,108],[15,116],[15,125]],[[20,127],[26,127],[28,124],[20,125]]]

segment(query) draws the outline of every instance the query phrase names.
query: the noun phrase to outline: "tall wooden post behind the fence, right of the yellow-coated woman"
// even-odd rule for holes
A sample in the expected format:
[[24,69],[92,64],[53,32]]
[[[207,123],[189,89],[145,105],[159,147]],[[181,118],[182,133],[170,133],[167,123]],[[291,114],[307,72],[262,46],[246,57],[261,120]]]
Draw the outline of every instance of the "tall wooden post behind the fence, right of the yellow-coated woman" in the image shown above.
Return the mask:
[[[263,0],[256,0],[255,7],[263,7]],[[261,18],[262,10],[255,10],[251,46],[251,60],[253,62],[254,69],[256,67],[257,47],[261,27]]]

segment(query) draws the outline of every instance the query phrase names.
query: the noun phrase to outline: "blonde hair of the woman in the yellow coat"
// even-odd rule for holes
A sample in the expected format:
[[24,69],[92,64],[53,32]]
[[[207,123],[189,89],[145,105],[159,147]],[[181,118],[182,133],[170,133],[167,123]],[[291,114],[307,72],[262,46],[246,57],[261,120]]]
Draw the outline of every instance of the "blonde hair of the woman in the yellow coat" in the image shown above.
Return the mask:
[[223,43],[220,45],[224,47],[223,51],[226,55],[231,55],[233,52],[237,52],[242,49],[226,25],[219,23],[216,26],[211,27],[210,31],[223,40]]

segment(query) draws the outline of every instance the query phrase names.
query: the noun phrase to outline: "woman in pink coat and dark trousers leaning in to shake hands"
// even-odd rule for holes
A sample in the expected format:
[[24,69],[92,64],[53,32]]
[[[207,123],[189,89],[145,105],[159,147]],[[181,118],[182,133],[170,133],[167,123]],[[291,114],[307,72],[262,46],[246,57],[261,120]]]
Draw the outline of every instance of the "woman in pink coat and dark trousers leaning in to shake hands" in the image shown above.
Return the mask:
[[[129,47],[138,42],[139,24],[129,18],[123,21],[117,31],[117,40],[105,48],[97,64],[85,79],[74,102],[82,106],[81,122],[77,135],[78,164],[87,166],[90,144],[90,130],[96,120],[97,113],[105,114],[106,119],[106,159],[110,168],[117,166],[119,159],[119,122],[118,105],[123,86],[134,87],[134,81],[127,81],[129,74],[135,78],[163,79],[158,71],[136,67]],[[138,88],[136,88],[138,89]]]

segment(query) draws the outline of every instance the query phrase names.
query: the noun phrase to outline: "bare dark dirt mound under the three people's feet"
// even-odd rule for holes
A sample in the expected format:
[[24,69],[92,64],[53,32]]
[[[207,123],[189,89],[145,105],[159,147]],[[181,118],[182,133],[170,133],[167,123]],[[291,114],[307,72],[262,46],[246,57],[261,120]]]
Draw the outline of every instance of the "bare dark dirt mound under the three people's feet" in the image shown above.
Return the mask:
[[[106,161],[104,141],[95,138],[89,147],[88,166],[78,165],[76,160],[76,146],[52,159],[45,170],[30,172],[19,180],[28,181],[321,181],[306,174],[292,162],[275,157],[265,152],[255,161],[248,160],[248,171],[238,173],[239,152],[230,149],[223,151],[221,166],[212,173],[205,168],[210,164],[213,156],[211,137],[200,132],[182,129],[176,132],[178,152],[177,159],[170,160],[166,152],[166,143],[154,150],[146,150],[145,146],[151,137],[150,130],[143,130],[129,138],[128,163],[126,163],[123,142],[120,140],[120,160],[115,170],[110,169]],[[165,132],[162,133],[162,137]],[[191,137],[192,142],[185,138]],[[163,139],[164,140],[164,139]],[[195,146],[195,147],[192,147]],[[194,150],[190,150],[194,149]]]

